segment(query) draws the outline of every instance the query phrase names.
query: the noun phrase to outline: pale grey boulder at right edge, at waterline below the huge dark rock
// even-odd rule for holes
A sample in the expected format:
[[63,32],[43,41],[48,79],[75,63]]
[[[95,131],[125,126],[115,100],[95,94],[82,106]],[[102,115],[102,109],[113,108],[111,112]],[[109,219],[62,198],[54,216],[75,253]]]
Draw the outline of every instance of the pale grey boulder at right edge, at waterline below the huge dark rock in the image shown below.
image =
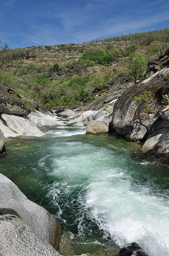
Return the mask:
[[169,160],[169,128],[161,128],[148,135],[141,151],[150,157]]

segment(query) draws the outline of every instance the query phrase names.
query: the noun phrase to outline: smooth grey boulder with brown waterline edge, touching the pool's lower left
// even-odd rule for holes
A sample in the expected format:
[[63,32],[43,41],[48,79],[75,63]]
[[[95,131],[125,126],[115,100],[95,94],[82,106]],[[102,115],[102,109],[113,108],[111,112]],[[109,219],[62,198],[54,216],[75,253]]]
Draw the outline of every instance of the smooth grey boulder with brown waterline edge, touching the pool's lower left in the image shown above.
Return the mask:
[[57,219],[43,207],[28,200],[16,185],[2,174],[0,191],[0,214],[17,215],[27,223],[35,235],[57,249],[62,233]]

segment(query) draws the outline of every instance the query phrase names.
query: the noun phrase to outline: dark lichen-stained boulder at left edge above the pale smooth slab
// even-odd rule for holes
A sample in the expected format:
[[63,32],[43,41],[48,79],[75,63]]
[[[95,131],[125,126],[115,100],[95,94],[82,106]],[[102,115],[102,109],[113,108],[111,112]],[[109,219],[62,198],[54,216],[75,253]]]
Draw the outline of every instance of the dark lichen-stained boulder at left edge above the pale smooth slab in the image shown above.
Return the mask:
[[0,114],[27,116],[30,107],[0,88]]

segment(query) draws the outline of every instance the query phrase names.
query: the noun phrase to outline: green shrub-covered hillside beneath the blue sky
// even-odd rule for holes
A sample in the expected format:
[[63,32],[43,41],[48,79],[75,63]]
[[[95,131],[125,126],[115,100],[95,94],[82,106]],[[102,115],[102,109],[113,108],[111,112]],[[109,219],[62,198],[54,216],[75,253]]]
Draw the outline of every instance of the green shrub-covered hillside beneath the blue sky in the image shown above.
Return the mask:
[[142,79],[146,59],[169,48],[169,30],[97,42],[9,49],[0,41],[0,81],[48,109],[80,104],[95,88],[106,93],[104,84],[119,73]]

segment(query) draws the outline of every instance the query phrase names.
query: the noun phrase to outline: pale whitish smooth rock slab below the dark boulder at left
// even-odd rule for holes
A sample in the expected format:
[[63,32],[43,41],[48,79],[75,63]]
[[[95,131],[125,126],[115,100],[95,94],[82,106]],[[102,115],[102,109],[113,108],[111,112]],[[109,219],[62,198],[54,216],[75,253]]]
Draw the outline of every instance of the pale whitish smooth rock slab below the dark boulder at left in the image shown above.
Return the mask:
[[[39,128],[35,126],[35,124],[24,117],[2,114],[2,118],[6,122],[6,126],[9,127],[13,132],[17,133],[17,136],[22,135],[40,137],[45,135]],[[8,133],[4,133],[4,136],[9,137]]]

